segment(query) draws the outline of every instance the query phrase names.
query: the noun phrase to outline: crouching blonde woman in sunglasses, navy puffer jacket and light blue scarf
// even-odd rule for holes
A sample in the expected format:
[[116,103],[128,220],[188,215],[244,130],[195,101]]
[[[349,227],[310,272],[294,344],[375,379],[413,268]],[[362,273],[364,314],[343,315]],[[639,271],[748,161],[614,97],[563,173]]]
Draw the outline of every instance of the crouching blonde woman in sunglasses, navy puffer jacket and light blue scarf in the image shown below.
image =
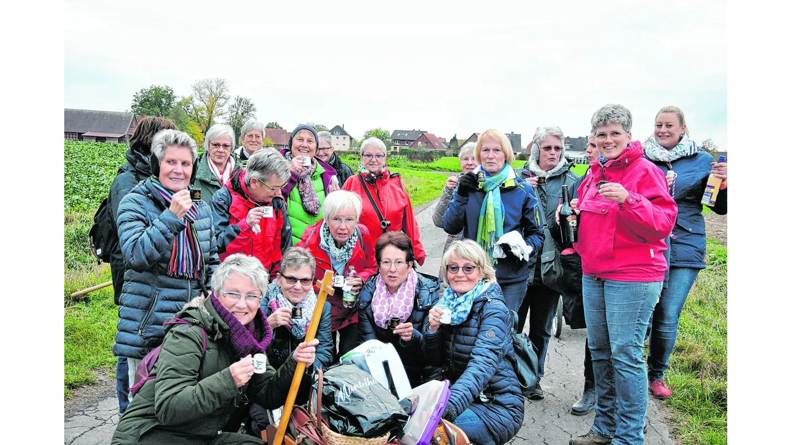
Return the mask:
[[513,371],[511,314],[480,245],[452,242],[441,267],[448,287],[429,311],[423,352],[451,382],[442,417],[473,443],[502,445],[524,420],[524,397]]

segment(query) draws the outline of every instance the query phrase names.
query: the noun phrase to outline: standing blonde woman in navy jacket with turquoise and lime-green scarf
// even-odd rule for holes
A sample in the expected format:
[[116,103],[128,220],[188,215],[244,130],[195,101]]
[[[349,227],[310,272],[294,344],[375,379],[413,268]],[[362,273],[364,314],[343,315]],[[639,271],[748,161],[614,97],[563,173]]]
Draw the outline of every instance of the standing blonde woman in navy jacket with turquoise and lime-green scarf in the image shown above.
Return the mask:
[[[509,165],[513,149],[502,131],[486,130],[475,144],[475,161],[480,167],[465,173],[453,192],[442,219],[448,234],[463,234],[478,242],[494,264],[505,306],[516,312],[528,290],[530,268],[536,264],[544,240],[541,203],[526,181]],[[479,183],[479,174],[484,181]],[[481,223],[479,223],[481,222]],[[508,247],[505,257],[494,257],[494,245],[509,232],[524,240],[529,257],[519,258]]]

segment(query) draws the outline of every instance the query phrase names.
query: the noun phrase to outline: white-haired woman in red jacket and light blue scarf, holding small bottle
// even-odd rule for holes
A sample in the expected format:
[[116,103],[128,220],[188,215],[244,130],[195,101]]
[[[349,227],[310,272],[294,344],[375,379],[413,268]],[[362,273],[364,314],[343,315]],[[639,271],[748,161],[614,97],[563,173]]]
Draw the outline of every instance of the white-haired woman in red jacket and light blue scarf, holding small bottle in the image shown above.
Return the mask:
[[[310,250],[316,257],[316,280],[324,278],[324,272],[332,271],[346,277],[351,287],[354,302],[343,302],[343,288],[335,287],[335,294],[327,296],[332,314],[333,351],[343,356],[360,343],[358,333],[357,295],[369,276],[377,273],[377,258],[374,254],[376,238],[358,223],[362,202],[360,196],[345,190],[327,195],[324,200],[324,217],[305,229],[297,247]],[[354,277],[349,278],[354,267]],[[348,306],[348,307],[347,307]],[[337,340],[335,333],[338,333]]]

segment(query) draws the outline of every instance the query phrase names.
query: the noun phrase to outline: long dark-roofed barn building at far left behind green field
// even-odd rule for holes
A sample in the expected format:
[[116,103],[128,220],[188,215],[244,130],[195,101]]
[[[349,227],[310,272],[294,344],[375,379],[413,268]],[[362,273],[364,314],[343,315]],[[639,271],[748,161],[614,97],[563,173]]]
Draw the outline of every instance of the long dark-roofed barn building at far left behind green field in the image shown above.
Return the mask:
[[63,139],[100,143],[127,143],[138,120],[133,112],[63,109]]

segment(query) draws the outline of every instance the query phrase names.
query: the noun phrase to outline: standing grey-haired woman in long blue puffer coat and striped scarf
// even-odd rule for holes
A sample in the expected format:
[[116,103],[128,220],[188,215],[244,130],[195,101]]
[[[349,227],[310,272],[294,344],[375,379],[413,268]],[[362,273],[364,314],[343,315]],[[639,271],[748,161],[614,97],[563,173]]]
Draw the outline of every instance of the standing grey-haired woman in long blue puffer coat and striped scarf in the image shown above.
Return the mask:
[[112,352],[127,357],[129,387],[140,360],[162,343],[165,317],[210,287],[220,263],[211,208],[193,202],[187,191],[197,157],[187,133],[158,131],[151,143],[152,176],[123,197],[115,215],[126,272]]

